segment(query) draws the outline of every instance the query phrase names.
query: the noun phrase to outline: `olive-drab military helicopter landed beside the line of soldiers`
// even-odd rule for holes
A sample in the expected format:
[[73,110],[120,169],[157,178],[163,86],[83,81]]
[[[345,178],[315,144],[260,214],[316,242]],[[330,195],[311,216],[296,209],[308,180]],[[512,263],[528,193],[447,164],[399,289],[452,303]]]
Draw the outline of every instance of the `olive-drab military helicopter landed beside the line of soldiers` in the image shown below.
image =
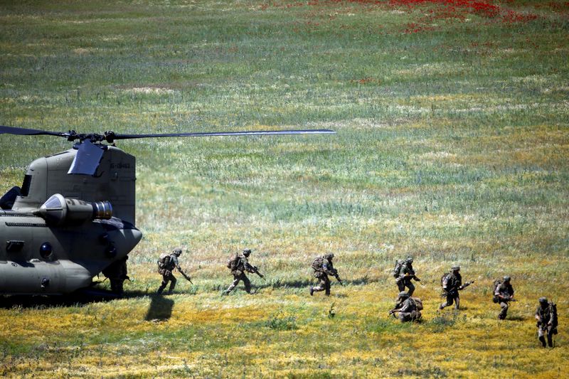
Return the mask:
[[122,293],[135,226],[136,160],[121,139],[330,134],[329,129],[171,134],[78,134],[0,126],[0,134],[55,136],[73,148],[33,161],[0,198],[0,295],[96,291],[102,272]]

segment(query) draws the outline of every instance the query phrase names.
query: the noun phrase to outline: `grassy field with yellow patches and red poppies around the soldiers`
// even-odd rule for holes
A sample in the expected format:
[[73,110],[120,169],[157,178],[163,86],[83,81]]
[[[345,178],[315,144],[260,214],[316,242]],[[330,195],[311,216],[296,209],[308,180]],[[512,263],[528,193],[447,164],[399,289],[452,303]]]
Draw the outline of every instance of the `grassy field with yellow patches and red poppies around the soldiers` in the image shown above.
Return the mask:
[[[0,124],[330,128],[121,142],[137,156],[124,299],[4,299],[0,375],[560,378],[569,339],[567,1],[0,1]],[[0,136],[0,192],[53,137]],[[184,248],[176,293],[156,258]],[[250,247],[267,281],[220,297]],[[346,286],[310,297],[334,252]],[[387,316],[413,255],[424,320]],[[437,312],[453,264],[462,310]],[[499,322],[491,282],[519,301]],[[537,298],[558,304],[538,348]]]

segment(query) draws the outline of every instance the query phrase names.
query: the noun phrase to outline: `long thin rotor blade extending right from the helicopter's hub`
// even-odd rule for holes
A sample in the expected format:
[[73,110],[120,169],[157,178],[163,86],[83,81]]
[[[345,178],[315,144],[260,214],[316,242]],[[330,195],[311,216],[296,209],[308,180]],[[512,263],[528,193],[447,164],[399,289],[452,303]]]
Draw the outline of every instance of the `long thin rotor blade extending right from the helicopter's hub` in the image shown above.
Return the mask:
[[115,139],[135,138],[161,138],[161,137],[215,137],[215,136],[270,136],[283,134],[335,134],[330,129],[294,129],[294,130],[254,130],[242,132],[193,132],[193,133],[165,133],[165,134],[115,134],[106,132],[107,142]]

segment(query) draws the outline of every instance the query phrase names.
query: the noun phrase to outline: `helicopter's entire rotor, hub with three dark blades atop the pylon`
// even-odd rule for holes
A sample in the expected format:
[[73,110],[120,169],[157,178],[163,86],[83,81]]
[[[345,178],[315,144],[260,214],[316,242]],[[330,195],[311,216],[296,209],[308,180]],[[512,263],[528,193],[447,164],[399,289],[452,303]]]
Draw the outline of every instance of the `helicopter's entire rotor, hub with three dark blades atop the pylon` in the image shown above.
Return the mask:
[[104,134],[79,134],[75,130],[69,132],[48,132],[40,129],[25,129],[20,127],[5,127],[0,125],[0,134],[16,134],[19,136],[55,136],[64,137],[68,141],[79,139],[79,144],[75,145],[77,155],[70,166],[68,174],[93,175],[97,171],[102,156],[107,149],[105,144],[95,144],[97,142],[107,142],[112,144],[118,139],[137,139],[137,138],[163,138],[163,137],[218,137],[218,136],[271,136],[283,134],[335,134],[330,129],[292,129],[292,130],[257,130],[242,132],[193,132],[193,133],[165,133],[165,134],[117,134],[112,131]]

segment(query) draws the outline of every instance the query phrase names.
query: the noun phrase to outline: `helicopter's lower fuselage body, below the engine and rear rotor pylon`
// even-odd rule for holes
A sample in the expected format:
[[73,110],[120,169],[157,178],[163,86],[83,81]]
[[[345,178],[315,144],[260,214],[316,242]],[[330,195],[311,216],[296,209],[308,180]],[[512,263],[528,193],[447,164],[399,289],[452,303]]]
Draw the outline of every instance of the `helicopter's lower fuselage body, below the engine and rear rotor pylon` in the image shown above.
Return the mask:
[[119,219],[53,227],[32,214],[0,210],[1,294],[66,294],[137,245],[142,233]]

